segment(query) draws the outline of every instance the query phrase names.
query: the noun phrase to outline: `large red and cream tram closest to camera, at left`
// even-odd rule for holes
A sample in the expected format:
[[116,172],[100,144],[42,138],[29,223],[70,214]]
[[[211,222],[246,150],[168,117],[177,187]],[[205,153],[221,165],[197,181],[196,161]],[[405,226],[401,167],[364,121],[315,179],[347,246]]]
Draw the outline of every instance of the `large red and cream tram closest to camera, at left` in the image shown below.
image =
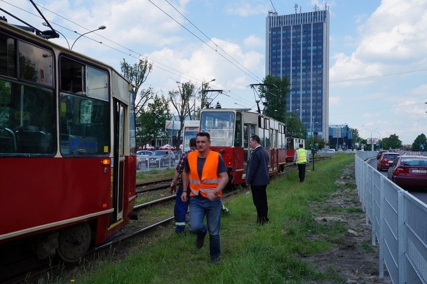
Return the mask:
[[129,222],[134,100],[111,67],[0,20],[3,257],[19,243],[74,262]]

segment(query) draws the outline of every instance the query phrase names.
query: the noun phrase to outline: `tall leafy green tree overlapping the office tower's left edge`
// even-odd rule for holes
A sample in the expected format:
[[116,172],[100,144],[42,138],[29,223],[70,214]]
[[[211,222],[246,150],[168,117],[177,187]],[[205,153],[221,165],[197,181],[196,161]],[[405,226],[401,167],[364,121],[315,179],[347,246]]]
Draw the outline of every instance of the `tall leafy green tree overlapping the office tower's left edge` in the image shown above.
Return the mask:
[[288,77],[282,78],[267,75],[264,86],[258,88],[260,98],[264,99],[264,114],[269,117],[278,117],[279,121],[286,119],[286,97],[291,92]]

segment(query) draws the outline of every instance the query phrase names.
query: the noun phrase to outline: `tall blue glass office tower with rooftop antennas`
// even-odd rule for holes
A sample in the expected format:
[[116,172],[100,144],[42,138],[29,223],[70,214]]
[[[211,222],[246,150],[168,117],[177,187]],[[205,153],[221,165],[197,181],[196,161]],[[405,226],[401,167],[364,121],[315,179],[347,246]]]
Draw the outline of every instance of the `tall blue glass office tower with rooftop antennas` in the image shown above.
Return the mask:
[[287,76],[288,112],[296,113],[307,136],[329,135],[329,9],[266,19],[266,75]]

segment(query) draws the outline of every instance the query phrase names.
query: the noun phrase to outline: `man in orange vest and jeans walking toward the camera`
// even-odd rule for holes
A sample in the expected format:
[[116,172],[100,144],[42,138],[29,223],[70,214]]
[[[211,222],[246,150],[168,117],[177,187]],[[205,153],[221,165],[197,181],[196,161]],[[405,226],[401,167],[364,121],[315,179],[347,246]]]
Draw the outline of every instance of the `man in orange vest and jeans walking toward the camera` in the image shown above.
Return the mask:
[[[197,235],[196,247],[204,244],[206,232],[209,232],[209,254],[213,264],[220,263],[221,243],[221,196],[229,182],[227,167],[218,152],[209,150],[210,135],[199,132],[196,135],[197,151],[187,155],[182,172],[182,202],[190,191],[190,211],[188,228]],[[207,229],[203,224],[206,217]]]

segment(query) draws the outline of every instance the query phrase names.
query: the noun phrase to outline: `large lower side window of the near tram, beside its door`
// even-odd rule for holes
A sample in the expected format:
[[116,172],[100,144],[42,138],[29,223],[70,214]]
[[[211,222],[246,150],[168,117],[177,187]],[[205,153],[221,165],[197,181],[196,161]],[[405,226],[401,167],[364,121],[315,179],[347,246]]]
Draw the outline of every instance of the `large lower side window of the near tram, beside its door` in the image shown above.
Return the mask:
[[108,155],[109,103],[61,93],[60,150],[67,155]]

